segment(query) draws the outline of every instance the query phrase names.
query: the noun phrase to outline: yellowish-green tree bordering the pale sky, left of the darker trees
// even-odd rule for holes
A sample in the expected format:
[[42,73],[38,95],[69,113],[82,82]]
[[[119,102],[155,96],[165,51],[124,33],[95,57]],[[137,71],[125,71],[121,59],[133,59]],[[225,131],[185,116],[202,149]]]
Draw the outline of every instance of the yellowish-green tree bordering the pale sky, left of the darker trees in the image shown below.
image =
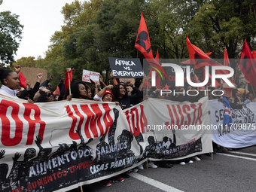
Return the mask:
[[[100,0],[92,0],[90,2],[84,1],[83,3],[75,0],[71,4],[66,4],[62,8],[62,14],[64,17],[64,25],[61,31],[56,31],[54,35],[50,38],[50,46],[46,51],[46,56],[44,58],[44,69],[47,69],[49,74],[53,74],[54,78],[52,84],[56,86],[59,80],[64,78],[66,68],[75,68],[74,81],[76,78],[81,80],[81,63],[76,59],[77,65],[73,66],[69,58],[63,56],[64,42],[73,44],[74,39],[72,34],[78,32],[85,26],[87,26],[91,20],[96,17],[99,7],[101,6]],[[73,35],[74,36],[74,35]]]

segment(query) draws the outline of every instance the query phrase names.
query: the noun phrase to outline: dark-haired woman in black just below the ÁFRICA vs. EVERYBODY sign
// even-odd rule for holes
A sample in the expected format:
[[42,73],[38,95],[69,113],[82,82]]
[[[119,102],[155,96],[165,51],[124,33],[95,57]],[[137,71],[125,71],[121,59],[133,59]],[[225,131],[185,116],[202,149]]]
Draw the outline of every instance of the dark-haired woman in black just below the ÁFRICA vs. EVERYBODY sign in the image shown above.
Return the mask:
[[[133,88],[136,94],[128,96],[126,85]],[[131,81],[127,81],[125,84],[117,84],[113,87],[112,93],[114,95],[114,101],[119,102],[119,105],[122,109],[130,108],[131,104],[135,104],[138,100],[143,98],[142,92],[134,86]]]

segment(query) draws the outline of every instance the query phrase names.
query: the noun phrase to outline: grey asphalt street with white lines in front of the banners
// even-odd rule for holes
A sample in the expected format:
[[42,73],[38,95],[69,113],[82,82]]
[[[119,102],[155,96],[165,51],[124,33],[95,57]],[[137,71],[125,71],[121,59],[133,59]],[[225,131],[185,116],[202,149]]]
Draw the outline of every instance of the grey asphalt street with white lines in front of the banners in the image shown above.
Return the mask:
[[201,161],[170,169],[144,169],[130,173],[121,183],[90,184],[94,191],[255,191],[256,145],[239,148],[208,157],[200,155]]

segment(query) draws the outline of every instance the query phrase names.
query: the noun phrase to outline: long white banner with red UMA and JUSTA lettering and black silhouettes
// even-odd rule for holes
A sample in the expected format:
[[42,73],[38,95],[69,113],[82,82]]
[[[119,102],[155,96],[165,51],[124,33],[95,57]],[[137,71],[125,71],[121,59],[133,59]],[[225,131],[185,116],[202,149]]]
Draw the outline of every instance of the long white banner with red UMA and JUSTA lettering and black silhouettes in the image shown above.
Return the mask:
[[0,190],[71,190],[119,175],[148,159],[211,152],[207,130],[158,132],[149,126],[209,123],[207,101],[148,99],[122,111],[110,102],[29,104],[0,95]]

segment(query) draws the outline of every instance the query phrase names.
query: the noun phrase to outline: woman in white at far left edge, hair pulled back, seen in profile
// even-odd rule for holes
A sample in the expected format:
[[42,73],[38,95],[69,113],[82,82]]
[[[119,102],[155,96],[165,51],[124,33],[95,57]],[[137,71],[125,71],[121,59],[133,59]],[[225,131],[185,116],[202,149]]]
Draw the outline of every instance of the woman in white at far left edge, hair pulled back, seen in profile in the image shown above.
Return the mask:
[[0,88],[0,93],[7,96],[17,97],[17,88],[20,85],[18,73],[20,72],[20,66],[14,66],[14,71],[11,69],[0,68],[0,80],[2,87]]

